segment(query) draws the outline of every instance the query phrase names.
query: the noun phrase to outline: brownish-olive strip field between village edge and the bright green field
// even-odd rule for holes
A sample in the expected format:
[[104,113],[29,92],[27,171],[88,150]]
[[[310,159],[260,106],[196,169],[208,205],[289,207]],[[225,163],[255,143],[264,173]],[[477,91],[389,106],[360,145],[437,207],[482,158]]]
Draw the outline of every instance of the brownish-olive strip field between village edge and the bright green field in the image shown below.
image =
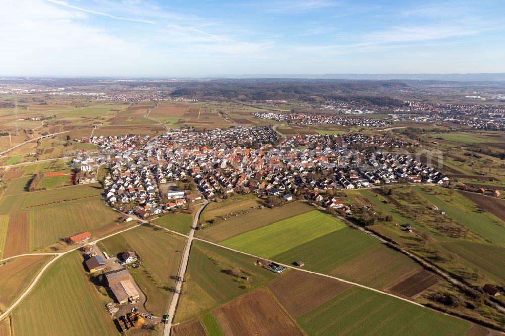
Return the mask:
[[231,217],[212,226],[197,231],[196,235],[213,242],[220,242],[241,233],[258,229],[276,221],[314,210],[314,207],[302,202],[293,202],[281,207],[263,208],[248,214]]

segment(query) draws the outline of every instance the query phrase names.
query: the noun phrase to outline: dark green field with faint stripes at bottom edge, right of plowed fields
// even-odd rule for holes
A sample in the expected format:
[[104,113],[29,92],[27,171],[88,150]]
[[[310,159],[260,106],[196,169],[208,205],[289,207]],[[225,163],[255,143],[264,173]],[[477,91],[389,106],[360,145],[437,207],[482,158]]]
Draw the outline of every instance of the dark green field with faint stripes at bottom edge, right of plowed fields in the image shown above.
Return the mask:
[[465,335],[472,326],[470,322],[358,287],[328,300],[297,321],[310,335]]

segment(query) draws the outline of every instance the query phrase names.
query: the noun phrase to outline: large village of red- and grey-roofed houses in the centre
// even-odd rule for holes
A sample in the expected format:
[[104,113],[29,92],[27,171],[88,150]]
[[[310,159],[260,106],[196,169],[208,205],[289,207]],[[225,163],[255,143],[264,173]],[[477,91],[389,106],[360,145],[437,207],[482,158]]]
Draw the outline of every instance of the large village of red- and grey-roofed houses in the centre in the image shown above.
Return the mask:
[[[181,128],[168,131],[142,148],[133,148],[131,139],[125,138],[125,145],[115,144],[111,175],[106,178],[107,199],[139,200],[145,213],[152,214],[151,209],[163,206],[157,184],[187,178],[194,180],[197,194],[205,198],[236,191],[266,195],[277,190],[289,194],[299,188],[352,189],[400,181],[448,181],[447,176],[406,151],[398,154],[377,150],[419,146],[391,136],[314,134],[275,144],[272,134],[276,133],[265,127],[208,131]],[[181,191],[165,196],[173,203],[177,199],[188,201],[187,193]]]

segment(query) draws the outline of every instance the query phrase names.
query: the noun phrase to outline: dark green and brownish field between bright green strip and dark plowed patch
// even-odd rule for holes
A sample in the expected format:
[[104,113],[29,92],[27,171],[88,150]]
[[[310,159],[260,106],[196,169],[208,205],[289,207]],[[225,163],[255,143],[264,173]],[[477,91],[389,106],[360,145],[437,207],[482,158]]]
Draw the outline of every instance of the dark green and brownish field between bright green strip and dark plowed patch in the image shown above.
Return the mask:
[[350,227],[298,245],[272,257],[291,264],[301,260],[304,268],[378,289],[396,283],[420,267],[375,238]]

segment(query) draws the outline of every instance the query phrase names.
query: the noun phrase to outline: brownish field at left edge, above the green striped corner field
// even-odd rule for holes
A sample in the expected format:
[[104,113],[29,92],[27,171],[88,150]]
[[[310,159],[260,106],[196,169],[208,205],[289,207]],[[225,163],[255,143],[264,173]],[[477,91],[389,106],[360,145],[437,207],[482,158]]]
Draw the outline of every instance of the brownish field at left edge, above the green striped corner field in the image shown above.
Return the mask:
[[9,307],[32,282],[51,256],[33,255],[11,259],[0,271],[0,312]]

